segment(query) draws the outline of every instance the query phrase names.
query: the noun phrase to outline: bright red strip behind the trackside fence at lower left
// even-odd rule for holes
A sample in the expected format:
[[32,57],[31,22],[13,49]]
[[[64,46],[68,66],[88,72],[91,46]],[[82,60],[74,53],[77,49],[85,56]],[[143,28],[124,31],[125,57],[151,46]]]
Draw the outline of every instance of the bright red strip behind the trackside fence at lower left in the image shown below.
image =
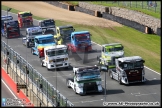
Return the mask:
[[[14,94],[17,94],[16,83],[11,79],[11,77],[7,74],[7,72],[1,68],[1,75],[5,83],[12,89]],[[33,107],[34,105],[30,102],[30,100],[24,95],[24,93],[20,90],[19,94],[16,95],[19,99],[25,99],[22,101],[24,106]]]

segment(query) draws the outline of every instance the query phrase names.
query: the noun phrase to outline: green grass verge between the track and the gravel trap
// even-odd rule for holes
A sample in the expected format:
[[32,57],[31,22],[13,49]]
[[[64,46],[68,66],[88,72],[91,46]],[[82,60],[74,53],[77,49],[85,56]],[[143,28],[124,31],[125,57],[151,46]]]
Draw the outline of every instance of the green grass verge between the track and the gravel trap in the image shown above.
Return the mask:
[[[5,6],[2,9],[6,10]],[[17,13],[17,10],[12,9],[11,12]],[[44,18],[36,17],[35,19],[41,20]],[[102,28],[98,26],[87,26],[75,24],[72,22],[65,22],[55,20],[57,26],[73,25],[76,31],[88,30],[92,34],[92,41],[98,44],[120,42],[124,45],[125,56],[138,55],[144,58],[145,65],[157,72],[161,72],[160,68],[160,36],[144,34],[133,28],[126,26]]]

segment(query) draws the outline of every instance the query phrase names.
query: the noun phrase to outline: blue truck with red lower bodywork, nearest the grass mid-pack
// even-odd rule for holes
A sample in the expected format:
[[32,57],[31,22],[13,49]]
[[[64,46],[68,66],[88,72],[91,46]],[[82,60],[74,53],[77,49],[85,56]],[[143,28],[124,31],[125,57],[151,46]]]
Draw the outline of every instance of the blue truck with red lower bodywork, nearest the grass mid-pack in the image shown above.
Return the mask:
[[72,32],[70,43],[67,43],[70,52],[92,51],[91,34],[89,31]]

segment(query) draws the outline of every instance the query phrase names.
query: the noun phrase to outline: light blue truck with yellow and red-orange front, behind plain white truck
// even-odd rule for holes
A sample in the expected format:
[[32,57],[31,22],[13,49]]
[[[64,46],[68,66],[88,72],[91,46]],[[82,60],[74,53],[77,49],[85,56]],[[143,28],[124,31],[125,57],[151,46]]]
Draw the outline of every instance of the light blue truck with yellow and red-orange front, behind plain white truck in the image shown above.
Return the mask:
[[35,36],[34,44],[34,47],[31,47],[31,53],[39,58],[44,57],[45,47],[56,45],[52,34]]

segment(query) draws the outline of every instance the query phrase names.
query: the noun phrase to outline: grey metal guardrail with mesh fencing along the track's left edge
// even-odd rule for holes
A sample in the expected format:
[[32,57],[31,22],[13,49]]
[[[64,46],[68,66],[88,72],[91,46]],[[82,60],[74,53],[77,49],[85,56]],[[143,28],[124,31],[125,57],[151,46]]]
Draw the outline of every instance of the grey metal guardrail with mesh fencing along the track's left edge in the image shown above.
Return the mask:
[[[52,103],[53,106],[57,106],[57,104],[62,107],[74,106],[66,97],[64,97],[58,90],[56,90],[54,86],[50,84],[36,69],[34,69],[32,65],[30,65],[21,55],[15,52],[4,41],[1,41],[1,53],[7,56],[7,50],[9,52],[9,60],[16,64],[16,68],[19,68],[21,72],[25,74],[25,76],[27,74],[26,68],[24,67],[27,66],[27,69],[29,70],[27,78],[37,87],[37,90],[39,90],[47,98],[47,102]],[[19,63],[17,63],[17,60],[19,61]],[[40,86],[42,86],[42,88],[40,88]],[[36,97],[39,97],[38,93],[35,95]],[[43,102],[43,99],[39,99]]]

